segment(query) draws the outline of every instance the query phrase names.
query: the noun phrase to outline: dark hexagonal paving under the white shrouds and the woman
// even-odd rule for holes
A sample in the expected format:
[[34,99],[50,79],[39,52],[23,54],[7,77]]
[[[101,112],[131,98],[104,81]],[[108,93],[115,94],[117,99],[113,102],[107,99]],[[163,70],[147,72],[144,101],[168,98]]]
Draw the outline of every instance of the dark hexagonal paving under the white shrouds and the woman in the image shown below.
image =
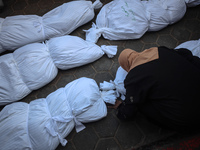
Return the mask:
[[[4,0],[5,7],[0,13],[0,17],[29,14],[42,16],[68,1],[70,0]],[[101,0],[104,5],[110,1]],[[96,14],[98,14],[98,11],[95,11]],[[89,29],[92,22],[95,22],[95,19],[79,27],[71,35],[85,39],[83,29]],[[185,16],[179,22],[157,32],[145,33],[142,38],[137,40],[109,41],[101,37],[97,45],[118,45],[118,52],[114,58],[109,59],[107,56],[103,56],[93,63],[78,68],[59,70],[57,77],[51,83],[33,91],[21,101],[30,102],[37,98],[44,98],[56,89],[80,77],[93,78],[98,84],[113,80],[119,67],[118,56],[125,48],[131,48],[138,52],[153,46],[175,48],[185,41],[199,38],[200,6],[188,8]],[[184,143],[187,140],[196,139],[198,141],[200,137],[200,132],[178,134],[171,130],[162,129],[150,123],[141,114],[138,114],[134,121],[122,122],[116,118],[115,110],[112,109],[108,109],[106,118],[85,125],[86,129],[80,133],[73,130],[66,137],[68,144],[65,147],[59,145],[56,150],[167,149],[173,148],[175,145],[180,147],[179,143]],[[195,147],[193,146],[193,148]],[[196,148],[200,148],[200,144]]]

